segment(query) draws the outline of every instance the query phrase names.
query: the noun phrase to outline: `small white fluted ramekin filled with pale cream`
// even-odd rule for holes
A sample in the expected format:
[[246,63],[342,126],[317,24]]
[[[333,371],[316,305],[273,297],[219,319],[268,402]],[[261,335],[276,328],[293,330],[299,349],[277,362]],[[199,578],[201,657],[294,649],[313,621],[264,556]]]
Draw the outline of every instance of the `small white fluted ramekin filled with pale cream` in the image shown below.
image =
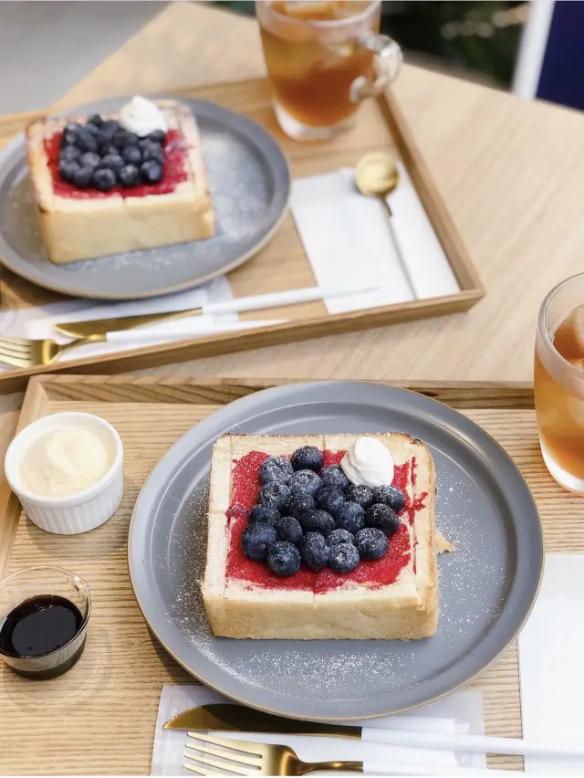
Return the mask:
[[5,476],[37,527],[73,535],[94,530],[118,510],[122,464],[120,435],[109,422],[60,413],[37,419],[15,437]]

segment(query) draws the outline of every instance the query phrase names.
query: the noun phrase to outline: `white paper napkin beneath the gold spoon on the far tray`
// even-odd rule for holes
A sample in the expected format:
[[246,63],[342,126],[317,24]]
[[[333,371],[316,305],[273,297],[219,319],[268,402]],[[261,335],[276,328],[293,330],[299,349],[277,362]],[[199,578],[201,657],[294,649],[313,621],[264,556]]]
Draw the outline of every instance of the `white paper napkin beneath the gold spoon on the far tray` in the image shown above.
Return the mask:
[[329,313],[443,297],[460,289],[407,170],[401,163],[398,168],[400,184],[389,197],[391,222],[379,200],[357,190],[352,168],[292,184],[292,215],[318,284],[355,279],[380,287],[325,300]]

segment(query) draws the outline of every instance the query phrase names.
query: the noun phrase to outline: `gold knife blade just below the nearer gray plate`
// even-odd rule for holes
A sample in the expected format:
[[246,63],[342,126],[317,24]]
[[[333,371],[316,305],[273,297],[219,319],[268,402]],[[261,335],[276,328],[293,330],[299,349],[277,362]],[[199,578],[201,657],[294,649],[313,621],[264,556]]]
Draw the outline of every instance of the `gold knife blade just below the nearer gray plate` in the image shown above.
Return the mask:
[[210,730],[222,732],[275,732],[288,735],[326,735],[360,739],[361,727],[320,724],[317,721],[285,719],[262,710],[214,702],[179,713],[164,724],[165,730]]

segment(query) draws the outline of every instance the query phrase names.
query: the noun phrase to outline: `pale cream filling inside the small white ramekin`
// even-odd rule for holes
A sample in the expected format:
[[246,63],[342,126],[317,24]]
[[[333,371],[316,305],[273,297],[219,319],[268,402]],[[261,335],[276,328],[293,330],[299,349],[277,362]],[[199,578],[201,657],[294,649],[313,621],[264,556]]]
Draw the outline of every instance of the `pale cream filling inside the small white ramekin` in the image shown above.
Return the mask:
[[66,426],[39,436],[20,462],[20,478],[41,497],[66,497],[89,489],[110,469],[112,457],[90,429]]

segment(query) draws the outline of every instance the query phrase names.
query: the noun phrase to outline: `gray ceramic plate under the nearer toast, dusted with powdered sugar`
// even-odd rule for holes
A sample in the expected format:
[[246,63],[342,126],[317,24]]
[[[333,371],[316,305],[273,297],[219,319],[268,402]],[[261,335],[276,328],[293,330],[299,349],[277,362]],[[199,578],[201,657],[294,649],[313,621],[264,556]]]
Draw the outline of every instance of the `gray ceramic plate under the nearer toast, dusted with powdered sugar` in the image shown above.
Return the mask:
[[[214,637],[203,577],[211,446],[229,431],[400,430],[432,449],[441,614],[427,640],[286,641]],[[485,668],[516,636],[537,594],[543,540],[512,460],[473,422],[421,394],[379,384],[296,384],[227,405],[162,457],[130,525],[130,576],[162,645],[193,676],[255,708],[295,718],[381,716],[435,699]]]

